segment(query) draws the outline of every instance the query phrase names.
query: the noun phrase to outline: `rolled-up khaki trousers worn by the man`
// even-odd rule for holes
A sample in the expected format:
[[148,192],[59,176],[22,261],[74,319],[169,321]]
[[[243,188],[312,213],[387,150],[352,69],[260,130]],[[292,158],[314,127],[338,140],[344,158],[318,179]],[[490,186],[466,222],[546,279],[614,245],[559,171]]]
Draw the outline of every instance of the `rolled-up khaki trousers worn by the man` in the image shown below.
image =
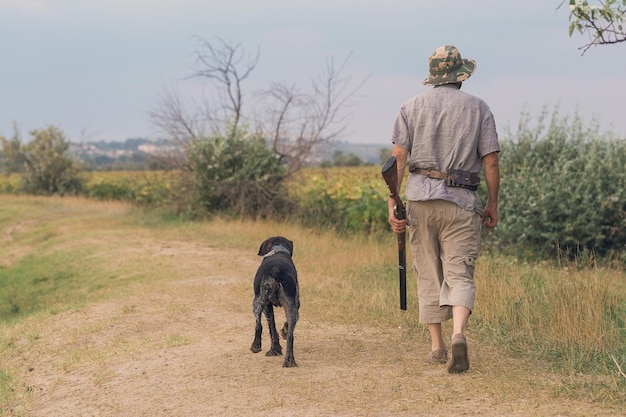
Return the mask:
[[452,306],[474,307],[480,215],[444,200],[409,201],[410,245],[417,273],[420,323],[452,318]]

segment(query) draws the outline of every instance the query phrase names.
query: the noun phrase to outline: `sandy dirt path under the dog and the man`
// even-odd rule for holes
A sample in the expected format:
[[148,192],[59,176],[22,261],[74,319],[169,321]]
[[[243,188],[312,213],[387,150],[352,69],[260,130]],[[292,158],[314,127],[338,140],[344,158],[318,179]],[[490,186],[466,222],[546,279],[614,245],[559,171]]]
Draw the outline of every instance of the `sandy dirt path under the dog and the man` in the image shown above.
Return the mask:
[[[186,242],[157,249],[184,265],[188,278],[22,326],[14,343],[26,387],[10,415],[619,415],[555,399],[556,380],[535,380],[471,335],[470,372],[448,375],[423,359],[422,335],[347,327],[336,324],[340,318],[313,322],[306,298],[296,328],[299,366],[282,368],[282,358],[249,350],[254,254]],[[263,340],[265,351],[266,329]],[[510,383],[494,384],[503,369]]]

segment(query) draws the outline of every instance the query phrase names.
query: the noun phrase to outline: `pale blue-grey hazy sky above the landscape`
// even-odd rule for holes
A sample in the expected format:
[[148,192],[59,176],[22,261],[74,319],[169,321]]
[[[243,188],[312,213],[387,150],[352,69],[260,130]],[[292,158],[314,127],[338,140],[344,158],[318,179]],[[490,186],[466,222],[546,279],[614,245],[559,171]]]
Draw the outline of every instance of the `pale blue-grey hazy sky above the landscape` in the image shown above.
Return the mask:
[[[149,113],[173,86],[202,91],[197,39],[260,52],[244,93],[306,89],[329,58],[365,80],[341,140],[388,144],[400,105],[429,88],[428,56],[476,60],[463,90],[487,102],[501,137],[558,109],[626,137],[626,43],[569,36],[562,0],[0,0],[0,135],[50,125],[73,142],[158,138]],[[244,109],[245,112],[245,109]]]

